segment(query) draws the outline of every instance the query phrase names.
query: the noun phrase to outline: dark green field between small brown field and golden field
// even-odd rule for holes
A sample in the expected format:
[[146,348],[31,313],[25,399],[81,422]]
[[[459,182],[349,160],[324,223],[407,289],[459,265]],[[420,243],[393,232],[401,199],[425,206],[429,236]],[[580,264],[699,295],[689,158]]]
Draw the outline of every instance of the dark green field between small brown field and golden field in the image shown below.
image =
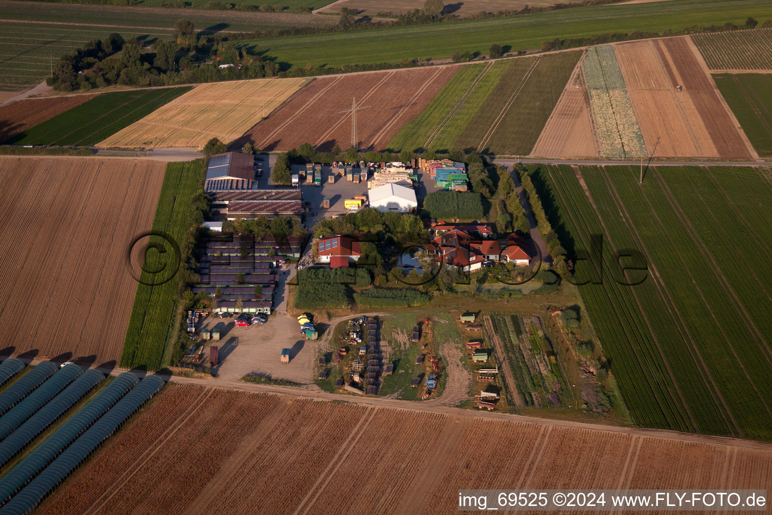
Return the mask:
[[103,93],[12,137],[9,144],[90,146],[134,124],[191,86]]

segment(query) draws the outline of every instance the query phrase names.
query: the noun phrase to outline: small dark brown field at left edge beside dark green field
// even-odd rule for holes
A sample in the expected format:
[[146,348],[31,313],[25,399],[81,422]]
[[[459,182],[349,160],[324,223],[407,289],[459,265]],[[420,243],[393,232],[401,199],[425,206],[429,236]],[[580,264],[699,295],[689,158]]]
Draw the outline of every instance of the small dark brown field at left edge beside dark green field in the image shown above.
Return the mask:
[[16,100],[0,109],[0,143],[37,124],[80,106],[95,95]]

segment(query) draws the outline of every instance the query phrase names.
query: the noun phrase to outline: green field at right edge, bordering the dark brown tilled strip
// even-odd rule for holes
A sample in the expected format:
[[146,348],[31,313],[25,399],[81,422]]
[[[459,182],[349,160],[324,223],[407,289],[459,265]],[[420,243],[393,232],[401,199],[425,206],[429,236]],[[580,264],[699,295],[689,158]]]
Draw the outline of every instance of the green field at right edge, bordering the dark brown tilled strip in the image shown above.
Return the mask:
[[772,75],[720,73],[713,80],[753,148],[762,157],[772,156]]

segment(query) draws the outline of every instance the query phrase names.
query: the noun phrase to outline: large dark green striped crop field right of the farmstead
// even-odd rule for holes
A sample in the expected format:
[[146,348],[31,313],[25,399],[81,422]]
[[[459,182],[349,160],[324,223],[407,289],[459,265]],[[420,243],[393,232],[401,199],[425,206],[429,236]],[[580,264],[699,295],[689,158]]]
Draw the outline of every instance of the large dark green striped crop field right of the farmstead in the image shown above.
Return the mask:
[[[592,202],[571,167],[532,178],[570,255],[603,240],[576,279],[591,281],[579,289],[635,421],[772,439],[769,171],[660,167],[642,185],[635,167],[580,173]],[[618,268],[628,249],[648,263],[637,286],[619,283],[641,280]]]

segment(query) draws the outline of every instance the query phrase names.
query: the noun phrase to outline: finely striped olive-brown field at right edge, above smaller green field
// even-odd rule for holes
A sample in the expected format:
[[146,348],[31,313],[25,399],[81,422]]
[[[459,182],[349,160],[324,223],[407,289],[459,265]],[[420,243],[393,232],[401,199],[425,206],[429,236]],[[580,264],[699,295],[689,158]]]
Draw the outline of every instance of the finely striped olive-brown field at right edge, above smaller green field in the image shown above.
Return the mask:
[[772,29],[692,34],[709,69],[772,69]]

